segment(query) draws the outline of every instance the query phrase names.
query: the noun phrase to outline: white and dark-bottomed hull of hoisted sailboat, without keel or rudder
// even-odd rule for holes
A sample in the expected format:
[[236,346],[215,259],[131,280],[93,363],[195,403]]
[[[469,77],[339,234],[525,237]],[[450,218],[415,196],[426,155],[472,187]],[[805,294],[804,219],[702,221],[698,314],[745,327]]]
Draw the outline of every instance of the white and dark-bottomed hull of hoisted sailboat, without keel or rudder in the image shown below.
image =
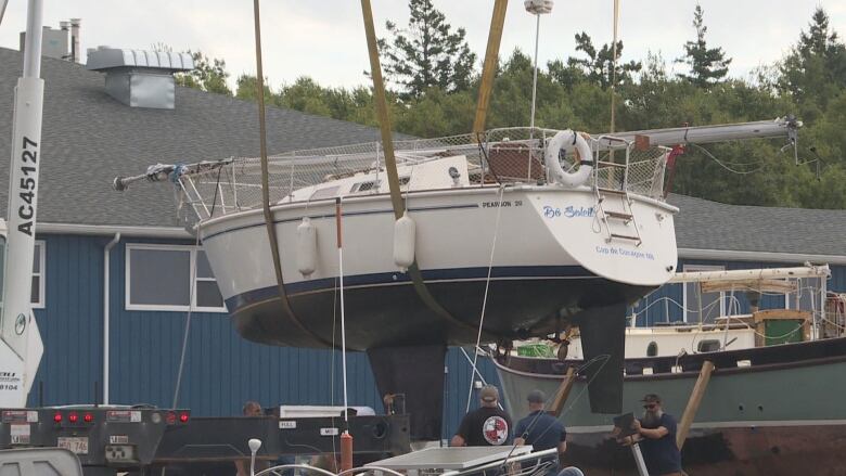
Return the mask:
[[[407,206],[416,223],[416,262],[445,314],[418,296],[409,273],[394,262],[389,197],[344,198],[348,348],[475,343],[483,306],[485,340],[544,335],[581,310],[638,299],[672,275],[677,253],[675,209],[650,198],[633,203],[642,243],[610,241],[587,188],[411,193]],[[287,306],[261,210],[211,219],[200,229],[229,311],[252,340],[332,345],[339,339],[335,203],[278,204],[272,215]],[[297,268],[296,228],[303,217],[317,231],[310,275]]]

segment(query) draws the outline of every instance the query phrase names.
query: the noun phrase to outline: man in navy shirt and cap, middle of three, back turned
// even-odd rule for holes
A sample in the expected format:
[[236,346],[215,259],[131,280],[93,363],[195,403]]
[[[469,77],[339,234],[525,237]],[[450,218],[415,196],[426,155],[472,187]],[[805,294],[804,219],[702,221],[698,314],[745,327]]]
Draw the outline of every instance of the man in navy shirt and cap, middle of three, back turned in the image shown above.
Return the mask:
[[[544,411],[547,396],[540,390],[531,390],[526,400],[528,400],[529,414],[517,422],[514,442],[531,445],[534,451],[557,448],[559,456],[563,455],[567,450],[567,432],[559,419]],[[549,461],[553,464],[546,474],[557,474],[559,458],[552,456]]]

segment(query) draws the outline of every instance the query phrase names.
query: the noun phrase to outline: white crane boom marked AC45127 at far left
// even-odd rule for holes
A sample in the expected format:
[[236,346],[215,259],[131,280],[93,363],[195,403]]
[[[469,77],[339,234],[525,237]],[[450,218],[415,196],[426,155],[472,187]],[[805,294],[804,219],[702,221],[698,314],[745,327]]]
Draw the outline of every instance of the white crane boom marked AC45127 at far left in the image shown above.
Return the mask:
[[12,165],[9,183],[8,236],[0,318],[0,372],[11,381],[0,385],[0,406],[23,407],[43,351],[29,296],[33,285],[38,168],[41,163],[41,0],[27,7],[24,73],[15,88]]

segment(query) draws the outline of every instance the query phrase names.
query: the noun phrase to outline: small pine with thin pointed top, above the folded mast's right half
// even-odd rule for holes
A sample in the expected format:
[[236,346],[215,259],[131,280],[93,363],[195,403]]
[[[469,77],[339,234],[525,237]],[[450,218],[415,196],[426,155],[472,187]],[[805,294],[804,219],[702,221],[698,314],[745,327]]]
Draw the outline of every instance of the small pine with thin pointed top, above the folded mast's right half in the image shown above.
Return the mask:
[[693,10],[693,27],[696,28],[696,40],[684,43],[684,56],[676,60],[677,63],[687,63],[690,74],[678,76],[698,88],[710,88],[722,80],[729,74],[731,59],[726,57],[722,48],[708,48],[705,34],[708,27],[703,21],[702,5],[696,4]]

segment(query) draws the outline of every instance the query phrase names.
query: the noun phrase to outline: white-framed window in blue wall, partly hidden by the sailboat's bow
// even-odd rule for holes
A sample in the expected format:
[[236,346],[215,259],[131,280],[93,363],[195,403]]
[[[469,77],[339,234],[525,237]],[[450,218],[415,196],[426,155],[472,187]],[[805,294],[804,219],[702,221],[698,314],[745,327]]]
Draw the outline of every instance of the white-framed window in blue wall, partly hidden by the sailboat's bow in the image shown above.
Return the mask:
[[142,244],[126,247],[126,308],[227,311],[205,252],[194,246]]

